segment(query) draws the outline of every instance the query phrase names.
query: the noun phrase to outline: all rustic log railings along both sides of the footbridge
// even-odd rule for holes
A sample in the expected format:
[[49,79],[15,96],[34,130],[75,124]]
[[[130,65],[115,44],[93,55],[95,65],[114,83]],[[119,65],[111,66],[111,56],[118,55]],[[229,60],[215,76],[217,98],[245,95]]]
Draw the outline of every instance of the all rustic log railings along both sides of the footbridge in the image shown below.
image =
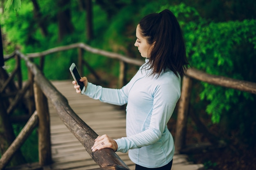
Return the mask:
[[[42,69],[45,55],[48,55],[50,53],[55,53],[58,51],[74,49],[74,48],[78,49],[78,58],[79,58],[78,68],[80,69],[80,72],[83,73],[82,68],[84,64],[94,74],[96,78],[99,78],[97,73],[92,68],[90,68],[90,65],[85,60],[83,60],[83,50],[119,60],[120,61],[119,86],[122,86],[123,85],[122,82],[124,82],[124,79],[126,79],[125,77],[126,63],[135,64],[137,66],[141,66],[141,64],[144,63],[141,60],[135,60],[135,59],[126,57],[124,55],[119,55],[117,53],[111,53],[111,52],[95,49],[83,43],[76,43],[76,44],[71,44],[67,46],[56,47],[40,53],[28,53],[27,55],[23,55],[19,51],[15,51],[15,53],[13,53],[12,55],[9,55],[7,58],[11,58],[14,56],[21,57],[23,60],[25,60],[26,65],[29,68],[28,84],[30,85],[34,84],[33,89],[35,94],[34,96],[35,96],[35,103],[36,103],[35,104],[36,111],[32,114],[29,121],[27,122],[25,127],[22,129],[18,137],[15,139],[15,141],[13,141],[13,144],[11,144],[8,150],[2,155],[0,159],[0,169],[7,165],[13,153],[21,146],[21,144],[25,141],[26,137],[33,130],[33,128],[36,127],[38,121],[40,122],[38,126],[39,164],[41,166],[44,166],[51,162],[49,110],[48,110],[48,107],[44,107],[44,108],[40,107],[42,106],[42,102],[44,106],[47,106],[47,99],[52,102],[52,104],[57,110],[59,117],[67,126],[67,128],[81,142],[81,144],[85,147],[85,149],[90,154],[92,159],[95,162],[97,162],[101,168],[106,169],[108,167],[110,169],[129,169],[126,166],[126,164],[111,149],[105,148],[103,150],[99,150],[98,152],[91,151],[90,148],[94,144],[94,139],[98,135],[87,124],[85,124],[85,122],[81,120],[76,115],[76,113],[74,113],[72,108],[70,108],[67,102],[67,99],[56,90],[56,88],[51,84],[51,82],[49,82],[49,80],[47,80],[44,77],[43,73],[40,71],[38,66],[36,66],[29,59],[34,57],[40,57],[41,60],[40,60],[39,67]],[[209,75],[207,73],[198,71],[194,68],[189,68],[182,80],[182,95],[181,95],[179,106],[178,106],[178,117],[177,117],[177,125],[176,125],[176,132],[175,132],[176,153],[179,153],[180,150],[185,147],[186,120],[188,116],[189,97],[190,97],[192,79],[198,79],[200,81],[216,84],[218,86],[235,88],[240,91],[247,91],[249,93],[256,94],[256,83],[230,79],[227,77]],[[24,91],[28,87],[29,85],[27,85],[26,88],[23,88]],[[1,91],[3,89],[4,87],[2,87]],[[31,103],[33,103],[33,101],[31,101]],[[30,104],[30,105],[33,106],[33,104]],[[13,107],[14,106],[15,104],[13,104]],[[209,135],[208,138],[212,143],[216,142],[215,139],[211,139],[211,135]]]

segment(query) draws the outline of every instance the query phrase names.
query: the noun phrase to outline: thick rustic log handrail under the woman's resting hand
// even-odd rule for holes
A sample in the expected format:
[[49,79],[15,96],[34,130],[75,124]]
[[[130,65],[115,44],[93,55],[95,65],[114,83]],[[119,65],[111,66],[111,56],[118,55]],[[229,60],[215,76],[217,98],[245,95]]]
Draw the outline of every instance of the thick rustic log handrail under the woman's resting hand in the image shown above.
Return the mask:
[[16,52],[20,57],[25,60],[27,67],[34,75],[34,81],[37,86],[42,90],[45,96],[52,102],[54,108],[67,128],[85,147],[92,159],[98,163],[100,167],[107,167],[110,165],[119,165],[127,170],[128,166],[118,157],[118,155],[110,148],[104,148],[92,152],[91,148],[94,144],[94,139],[98,137],[94,132],[69,106],[67,99],[49,82],[48,79],[42,74],[37,66],[32,63],[29,58],[20,52]]

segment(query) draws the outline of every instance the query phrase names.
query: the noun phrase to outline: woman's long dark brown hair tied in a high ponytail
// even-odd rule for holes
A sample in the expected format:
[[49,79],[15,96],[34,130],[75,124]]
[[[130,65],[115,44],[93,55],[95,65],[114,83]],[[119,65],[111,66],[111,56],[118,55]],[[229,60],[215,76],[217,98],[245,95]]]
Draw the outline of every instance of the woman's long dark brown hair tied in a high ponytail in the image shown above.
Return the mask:
[[141,35],[152,45],[148,64],[152,74],[158,74],[169,68],[175,75],[184,75],[189,62],[180,24],[168,9],[160,13],[146,15],[139,22]]

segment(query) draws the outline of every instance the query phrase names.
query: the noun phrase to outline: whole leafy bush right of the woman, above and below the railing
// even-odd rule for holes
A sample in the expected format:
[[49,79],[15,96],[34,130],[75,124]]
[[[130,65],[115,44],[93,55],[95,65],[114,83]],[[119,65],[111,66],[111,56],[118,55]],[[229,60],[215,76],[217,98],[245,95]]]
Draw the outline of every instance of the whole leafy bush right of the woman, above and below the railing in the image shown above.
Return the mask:
[[[212,75],[256,82],[256,20],[213,22],[184,4],[169,9],[182,25],[192,67]],[[205,108],[212,123],[219,123],[226,135],[234,130],[240,141],[255,145],[255,95],[198,81],[193,87],[191,107],[198,116],[203,116],[201,110]]]

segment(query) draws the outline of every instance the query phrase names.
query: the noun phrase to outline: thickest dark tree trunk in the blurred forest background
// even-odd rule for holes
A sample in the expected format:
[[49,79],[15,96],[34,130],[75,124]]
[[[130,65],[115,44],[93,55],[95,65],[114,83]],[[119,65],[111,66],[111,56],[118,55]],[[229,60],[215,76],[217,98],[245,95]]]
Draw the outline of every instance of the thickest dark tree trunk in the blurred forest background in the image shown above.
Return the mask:
[[65,35],[74,31],[74,26],[71,22],[71,12],[68,6],[70,0],[58,0],[58,40],[63,40]]

